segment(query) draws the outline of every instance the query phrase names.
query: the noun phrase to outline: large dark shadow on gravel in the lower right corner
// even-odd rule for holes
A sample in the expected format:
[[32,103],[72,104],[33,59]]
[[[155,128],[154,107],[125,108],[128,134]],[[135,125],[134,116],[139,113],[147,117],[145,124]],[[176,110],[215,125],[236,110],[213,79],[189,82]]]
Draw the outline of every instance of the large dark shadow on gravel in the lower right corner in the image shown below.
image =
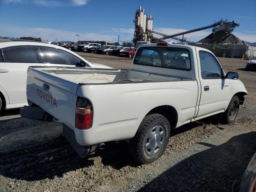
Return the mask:
[[256,152],[255,139],[256,132],[249,132],[234,136],[219,146],[200,142],[198,145],[209,149],[172,166],[139,191],[231,191],[234,180],[242,178]]

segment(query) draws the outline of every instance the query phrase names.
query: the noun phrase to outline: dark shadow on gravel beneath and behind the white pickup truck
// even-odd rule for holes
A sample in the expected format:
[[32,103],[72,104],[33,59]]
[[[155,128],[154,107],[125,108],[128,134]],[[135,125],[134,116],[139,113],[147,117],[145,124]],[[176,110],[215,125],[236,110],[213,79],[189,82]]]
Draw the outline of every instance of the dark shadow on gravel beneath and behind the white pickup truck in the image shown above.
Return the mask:
[[[211,117],[204,122],[192,122],[172,132],[172,135],[186,132],[204,123],[217,124]],[[15,144],[14,144],[15,146]],[[16,145],[18,146],[18,144]],[[104,150],[97,149],[87,158],[80,158],[64,136],[44,142],[29,142],[12,150],[0,150],[0,175],[21,180],[35,181],[94,165],[94,158],[100,157],[104,166],[119,170],[130,165],[138,166],[128,152],[126,142],[108,142]]]

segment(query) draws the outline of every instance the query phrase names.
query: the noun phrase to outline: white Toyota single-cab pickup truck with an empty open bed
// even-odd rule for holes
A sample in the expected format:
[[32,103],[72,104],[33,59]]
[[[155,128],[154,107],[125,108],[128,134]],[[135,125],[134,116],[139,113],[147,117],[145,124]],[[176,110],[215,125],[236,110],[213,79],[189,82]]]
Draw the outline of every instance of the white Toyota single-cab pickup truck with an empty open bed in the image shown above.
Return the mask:
[[163,154],[173,128],[218,113],[234,122],[247,94],[209,50],[169,43],[141,45],[129,70],[35,66],[27,73],[30,106],[22,116],[63,122],[82,157],[126,140],[144,164]]

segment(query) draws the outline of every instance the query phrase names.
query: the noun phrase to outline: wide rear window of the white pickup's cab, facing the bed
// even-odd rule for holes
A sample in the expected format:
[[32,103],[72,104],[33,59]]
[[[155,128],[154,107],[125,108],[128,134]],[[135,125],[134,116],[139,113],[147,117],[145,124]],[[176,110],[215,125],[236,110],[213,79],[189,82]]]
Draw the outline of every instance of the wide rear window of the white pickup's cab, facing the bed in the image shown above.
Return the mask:
[[191,70],[190,52],[185,48],[141,47],[134,64],[178,70]]

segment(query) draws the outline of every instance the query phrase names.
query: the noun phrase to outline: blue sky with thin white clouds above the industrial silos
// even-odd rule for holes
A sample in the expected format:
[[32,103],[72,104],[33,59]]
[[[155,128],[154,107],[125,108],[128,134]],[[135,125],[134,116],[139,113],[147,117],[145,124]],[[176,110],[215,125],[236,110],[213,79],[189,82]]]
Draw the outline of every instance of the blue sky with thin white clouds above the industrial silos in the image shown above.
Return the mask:
[[[134,12],[142,6],[154,17],[153,28],[165,34],[228,19],[240,23],[233,34],[256,42],[256,0],[0,0],[0,36],[34,36],[43,40],[130,41]],[[211,29],[185,37],[198,41]]]

